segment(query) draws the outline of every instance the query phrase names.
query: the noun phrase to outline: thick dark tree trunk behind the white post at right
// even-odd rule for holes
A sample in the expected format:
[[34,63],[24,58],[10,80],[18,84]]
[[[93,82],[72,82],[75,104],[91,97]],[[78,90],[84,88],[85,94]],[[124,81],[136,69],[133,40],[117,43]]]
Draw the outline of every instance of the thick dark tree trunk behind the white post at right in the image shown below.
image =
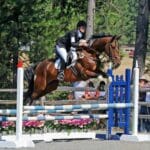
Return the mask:
[[137,60],[140,68],[140,76],[142,76],[142,74],[144,73],[145,58],[147,53],[148,26],[150,14],[149,5],[149,0],[139,0],[133,67],[135,66],[135,62]]

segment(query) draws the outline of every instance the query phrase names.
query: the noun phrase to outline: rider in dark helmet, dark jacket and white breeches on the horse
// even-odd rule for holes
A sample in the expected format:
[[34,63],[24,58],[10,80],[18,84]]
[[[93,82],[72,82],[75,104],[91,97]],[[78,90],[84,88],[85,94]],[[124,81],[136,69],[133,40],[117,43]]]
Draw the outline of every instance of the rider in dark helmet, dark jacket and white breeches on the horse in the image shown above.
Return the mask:
[[[66,33],[63,37],[59,38],[56,42],[56,55],[61,59],[61,66],[58,70],[57,79],[64,80],[64,69],[67,64],[68,52],[72,53],[72,62],[77,60],[76,48],[78,46],[88,46],[85,38],[86,22],[81,20],[77,23],[76,30]],[[82,41],[82,42],[80,42]]]

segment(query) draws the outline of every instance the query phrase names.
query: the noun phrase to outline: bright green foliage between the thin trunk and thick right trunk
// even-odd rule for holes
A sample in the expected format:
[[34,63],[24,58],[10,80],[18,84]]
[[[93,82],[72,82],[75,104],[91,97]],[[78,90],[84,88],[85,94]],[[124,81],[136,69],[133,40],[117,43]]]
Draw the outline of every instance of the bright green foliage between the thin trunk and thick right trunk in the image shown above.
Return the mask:
[[122,44],[135,42],[138,0],[97,0],[95,32],[122,35]]

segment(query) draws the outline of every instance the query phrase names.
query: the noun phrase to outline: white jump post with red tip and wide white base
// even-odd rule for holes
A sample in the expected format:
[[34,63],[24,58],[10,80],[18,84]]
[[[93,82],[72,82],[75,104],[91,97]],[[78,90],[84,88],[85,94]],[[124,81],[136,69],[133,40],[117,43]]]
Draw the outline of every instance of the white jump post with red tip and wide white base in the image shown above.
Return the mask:
[[17,114],[16,114],[16,136],[8,140],[0,141],[0,148],[19,148],[19,147],[34,147],[30,137],[26,138],[22,135],[22,115],[23,115],[23,79],[24,70],[23,62],[18,61],[17,65]]

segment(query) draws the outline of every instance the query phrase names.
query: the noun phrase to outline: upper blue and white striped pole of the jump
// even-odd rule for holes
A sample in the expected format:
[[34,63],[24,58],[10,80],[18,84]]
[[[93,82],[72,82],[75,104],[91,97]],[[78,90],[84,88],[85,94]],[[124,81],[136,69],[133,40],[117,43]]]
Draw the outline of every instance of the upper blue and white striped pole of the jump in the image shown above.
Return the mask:
[[[106,110],[109,108],[130,108],[132,103],[111,103],[111,104],[80,104],[80,105],[62,105],[62,106],[25,106],[23,114],[35,113],[56,113],[56,112],[75,112],[83,110]],[[16,109],[0,109],[0,114],[15,115]]]

